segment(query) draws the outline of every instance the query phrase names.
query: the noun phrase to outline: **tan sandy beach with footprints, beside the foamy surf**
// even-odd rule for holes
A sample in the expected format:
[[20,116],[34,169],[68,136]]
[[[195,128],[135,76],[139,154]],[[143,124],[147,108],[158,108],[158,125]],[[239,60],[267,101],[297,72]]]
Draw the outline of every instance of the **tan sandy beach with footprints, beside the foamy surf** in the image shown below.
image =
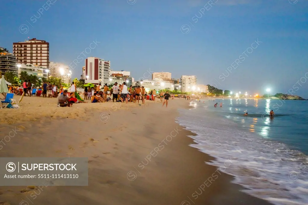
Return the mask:
[[0,156],[88,157],[89,185],[0,187],[0,204],[270,204],[239,191],[223,168],[205,164],[213,157],[188,146],[193,133],[175,119],[189,101],[56,102],[24,97],[20,108],[0,109],[1,140],[16,129]]

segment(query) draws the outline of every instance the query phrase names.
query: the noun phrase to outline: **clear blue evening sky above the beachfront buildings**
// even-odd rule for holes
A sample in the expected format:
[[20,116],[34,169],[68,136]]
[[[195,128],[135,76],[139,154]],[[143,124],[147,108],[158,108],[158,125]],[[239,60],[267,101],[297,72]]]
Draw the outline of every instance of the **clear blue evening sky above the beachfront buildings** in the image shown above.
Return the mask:
[[135,80],[164,71],[308,98],[308,0],[11,0],[0,14],[1,47],[46,40],[50,61],[71,65],[74,78],[99,57]]

